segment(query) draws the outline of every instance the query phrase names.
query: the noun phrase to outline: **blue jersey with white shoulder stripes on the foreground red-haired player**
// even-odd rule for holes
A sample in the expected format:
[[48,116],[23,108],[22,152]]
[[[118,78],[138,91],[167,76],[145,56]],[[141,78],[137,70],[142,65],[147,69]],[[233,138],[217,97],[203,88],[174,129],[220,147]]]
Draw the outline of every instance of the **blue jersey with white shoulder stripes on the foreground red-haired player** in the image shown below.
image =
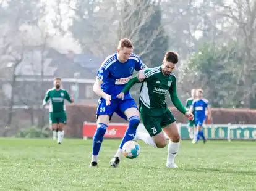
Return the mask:
[[[117,60],[117,54],[109,55],[101,64],[96,79],[103,81],[101,89],[111,95],[112,99],[117,99],[118,95],[126,83],[132,78],[134,70],[139,71],[146,68],[140,58],[131,54],[129,59],[122,63]],[[131,99],[131,95],[127,92],[124,99]]]

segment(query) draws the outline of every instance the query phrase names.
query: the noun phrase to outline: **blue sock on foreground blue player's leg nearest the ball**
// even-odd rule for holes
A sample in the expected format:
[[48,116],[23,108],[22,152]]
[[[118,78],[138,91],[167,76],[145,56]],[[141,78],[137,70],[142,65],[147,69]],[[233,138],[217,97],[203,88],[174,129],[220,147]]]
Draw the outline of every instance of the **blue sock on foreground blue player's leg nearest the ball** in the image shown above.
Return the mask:
[[139,116],[131,116],[129,118],[129,126],[126,130],[126,134],[124,134],[124,137],[122,138],[122,142],[121,142],[119,148],[122,149],[122,146],[127,141],[134,139],[134,137],[136,135],[136,129],[139,124],[140,124]]

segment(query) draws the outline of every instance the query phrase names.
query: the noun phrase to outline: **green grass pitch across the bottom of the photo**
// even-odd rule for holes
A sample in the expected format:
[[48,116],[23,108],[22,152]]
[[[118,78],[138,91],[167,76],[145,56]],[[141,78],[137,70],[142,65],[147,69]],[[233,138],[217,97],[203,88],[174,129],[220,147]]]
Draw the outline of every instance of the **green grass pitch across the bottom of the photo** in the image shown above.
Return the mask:
[[109,160],[120,140],[105,140],[98,168],[88,168],[92,140],[0,139],[1,190],[256,190],[256,143],[182,141],[177,169],[167,149],[139,142],[140,156]]

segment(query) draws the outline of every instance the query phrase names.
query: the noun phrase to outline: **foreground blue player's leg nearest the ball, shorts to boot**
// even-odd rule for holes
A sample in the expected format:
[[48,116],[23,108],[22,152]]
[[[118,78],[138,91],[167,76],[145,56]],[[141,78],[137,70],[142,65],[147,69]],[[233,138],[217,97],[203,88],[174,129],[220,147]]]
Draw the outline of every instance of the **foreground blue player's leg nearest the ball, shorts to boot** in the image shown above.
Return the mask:
[[137,105],[134,100],[121,101],[119,103],[118,109],[119,110],[116,111],[117,114],[119,116],[122,116],[120,112],[124,113],[124,115],[126,115],[127,120],[129,121],[129,125],[124,134],[124,137],[122,138],[121,144],[119,145],[116,155],[114,155],[114,158],[112,158],[110,161],[110,165],[113,167],[117,167],[122,155],[122,146],[127,141],[134,139],[137,127],[140,123],[139,110],[137,109]]

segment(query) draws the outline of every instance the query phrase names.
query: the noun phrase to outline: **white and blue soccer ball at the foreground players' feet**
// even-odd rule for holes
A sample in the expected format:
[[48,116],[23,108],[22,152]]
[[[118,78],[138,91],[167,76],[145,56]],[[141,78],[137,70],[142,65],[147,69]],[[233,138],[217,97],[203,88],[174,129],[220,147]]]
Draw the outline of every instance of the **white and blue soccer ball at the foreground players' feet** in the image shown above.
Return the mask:
[[129,140],[122,147],[122,153],[126,158],[136,158],[140,153],[140,145],[133,140]]

